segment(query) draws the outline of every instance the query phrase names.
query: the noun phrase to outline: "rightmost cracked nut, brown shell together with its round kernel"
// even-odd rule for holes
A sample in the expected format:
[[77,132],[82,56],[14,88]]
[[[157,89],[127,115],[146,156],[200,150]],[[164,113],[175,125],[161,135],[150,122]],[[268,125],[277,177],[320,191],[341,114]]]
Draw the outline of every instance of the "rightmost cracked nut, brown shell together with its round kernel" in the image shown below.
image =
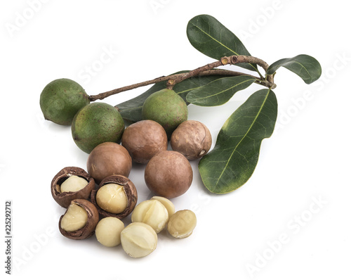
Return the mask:
[[138,193],[133,182],[122,175],[102,180],[98,189],[91,191],[91,202],[102,217],[122,219],[134,210]]

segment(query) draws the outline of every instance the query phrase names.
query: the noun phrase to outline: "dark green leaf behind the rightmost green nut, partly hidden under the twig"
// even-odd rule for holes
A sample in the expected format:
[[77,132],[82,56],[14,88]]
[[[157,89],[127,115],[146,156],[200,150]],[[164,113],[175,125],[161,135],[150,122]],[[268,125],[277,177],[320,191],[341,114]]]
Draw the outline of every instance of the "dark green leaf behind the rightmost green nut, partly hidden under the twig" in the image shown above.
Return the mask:
[[[188,71],[181,71],[181,72],[188,72]],[[177,72],[175,74],[181,73]],[[211,75],[211,76],[198,76],[198,77],[191,77],[190,79],[185,79],[183,82],[180,82],[176,84],[173,87],[173,90],[176,91],[177,94],[179,94],[185,101],[186,101],[186,96],[189,91],[192,91],[193,89],[197,89],[198,87],[203,86],[204,84],[208,84],[209,82],[212,82],[216,79],[220,79],[221,75]],[[156,91],[159,91],[161,89],[166,89],[166,82],[159,82],[157,84],[154,84],[150,89],[145,91],[143,94],[140,94],[139,96],[136,96],[135,98],[132,98],[128,101],[125,101],[123,103],[119,103],[115,107],[118,108],[119,113],[121,113],[122,117],[126,122],[138,122],[139,120],[142,120],[141,116],[141,110],[143,108],[143,104],[145,102],[145,99],[149,97],[151,94],[153,94]]]

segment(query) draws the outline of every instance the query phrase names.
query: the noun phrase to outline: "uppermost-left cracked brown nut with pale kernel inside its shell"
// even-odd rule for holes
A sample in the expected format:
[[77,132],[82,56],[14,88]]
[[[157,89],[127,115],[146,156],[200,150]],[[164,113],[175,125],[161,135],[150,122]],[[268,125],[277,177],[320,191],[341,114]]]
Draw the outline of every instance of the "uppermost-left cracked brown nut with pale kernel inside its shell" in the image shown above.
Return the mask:
[[95,188],[95,180],[80,167],[65,167],[51,181],[51,195],[67,208],[74,199],[88,199]]

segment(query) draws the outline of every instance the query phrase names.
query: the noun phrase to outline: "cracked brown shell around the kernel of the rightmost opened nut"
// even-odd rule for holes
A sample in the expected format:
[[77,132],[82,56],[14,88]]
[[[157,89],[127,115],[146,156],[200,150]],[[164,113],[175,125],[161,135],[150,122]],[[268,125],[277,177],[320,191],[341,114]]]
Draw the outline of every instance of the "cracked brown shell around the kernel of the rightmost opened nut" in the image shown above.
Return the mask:
[[[126,197],[128,198],[128,205],[123,212],[119,214],[107,212],[102,208],[100,208],[100,206],[96,202],[96,193],[98,192],[98,189],[100,189],[105,184],[119,184],[121,186],[124,186],[124,191],[126,193]],[[133,184],[133,182],[131,182],[130,179],[128,179],[123,175],[112,175],[103,179],[99,184],[98,189],[91,191],[91,202],[95,205],[96,209],[98,209],[98,212],[102,217],[116,217],[118,219],[123,219],[124,217],[131,214],[131,212],[134,210],[135,205],[138,201],[138,193],[135,188],[135,185]]]

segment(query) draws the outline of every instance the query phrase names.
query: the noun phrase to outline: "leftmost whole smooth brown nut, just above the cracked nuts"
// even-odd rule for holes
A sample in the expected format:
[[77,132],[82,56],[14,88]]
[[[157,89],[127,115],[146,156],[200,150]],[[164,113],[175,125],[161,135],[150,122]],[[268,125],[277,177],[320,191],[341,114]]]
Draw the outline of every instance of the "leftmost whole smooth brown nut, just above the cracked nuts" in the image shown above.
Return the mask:
[[105,142],[96,146],[88,156],[88,173],[97,184],[111,175],[128,177],[132,159],[124,146],[114,142]]

